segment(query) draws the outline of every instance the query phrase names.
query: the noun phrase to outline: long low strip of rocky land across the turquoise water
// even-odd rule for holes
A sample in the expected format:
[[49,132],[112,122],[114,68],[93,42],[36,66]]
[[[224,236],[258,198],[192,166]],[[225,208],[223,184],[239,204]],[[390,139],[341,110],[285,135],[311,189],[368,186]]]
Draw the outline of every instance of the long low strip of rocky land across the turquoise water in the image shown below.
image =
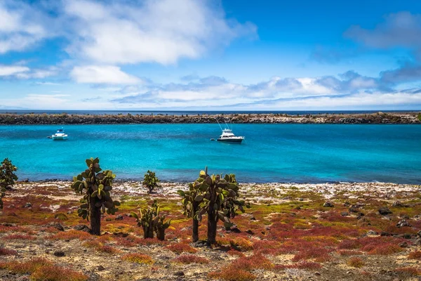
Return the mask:
[[201,124],[225,119],[237,124],[421,124],[421,113],[234,114],[234,115],[60,115],[0,114],[0,124]]

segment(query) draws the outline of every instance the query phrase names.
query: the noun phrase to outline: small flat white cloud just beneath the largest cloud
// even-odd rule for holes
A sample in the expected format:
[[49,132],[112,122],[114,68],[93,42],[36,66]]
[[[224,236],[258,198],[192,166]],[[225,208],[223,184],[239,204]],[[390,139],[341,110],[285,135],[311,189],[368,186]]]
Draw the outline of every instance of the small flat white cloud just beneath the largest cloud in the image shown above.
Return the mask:
[[112,65],[76,66],[70,76],[78,83],[90,84],[138,84],[142,81]]

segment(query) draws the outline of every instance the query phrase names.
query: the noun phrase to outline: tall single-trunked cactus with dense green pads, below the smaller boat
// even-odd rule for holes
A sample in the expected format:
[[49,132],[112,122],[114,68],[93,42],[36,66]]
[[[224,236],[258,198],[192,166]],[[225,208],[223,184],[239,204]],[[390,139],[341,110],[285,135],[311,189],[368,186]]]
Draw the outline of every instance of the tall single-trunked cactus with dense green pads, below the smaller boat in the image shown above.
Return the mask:
[[77,210],[79,216],[91,222],[91,233],[101,234],[101,212],[115,214],[120,202],[111,198],[112,181],[116,177],[112,171],[102,171],[100,159],[86,159],[88,169],[73,177],[72,188],[76,193],[83,194],[83,204]]

